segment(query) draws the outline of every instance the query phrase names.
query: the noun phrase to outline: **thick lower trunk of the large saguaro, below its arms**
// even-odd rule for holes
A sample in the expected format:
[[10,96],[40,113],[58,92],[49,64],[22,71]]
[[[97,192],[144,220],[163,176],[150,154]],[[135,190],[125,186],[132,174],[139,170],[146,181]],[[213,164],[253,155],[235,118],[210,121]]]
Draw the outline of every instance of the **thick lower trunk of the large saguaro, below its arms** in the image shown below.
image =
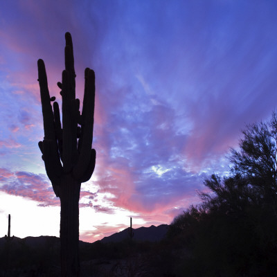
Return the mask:
[[60,184],[62,277],[80,276],[79,196],[81,184],[64,175]]

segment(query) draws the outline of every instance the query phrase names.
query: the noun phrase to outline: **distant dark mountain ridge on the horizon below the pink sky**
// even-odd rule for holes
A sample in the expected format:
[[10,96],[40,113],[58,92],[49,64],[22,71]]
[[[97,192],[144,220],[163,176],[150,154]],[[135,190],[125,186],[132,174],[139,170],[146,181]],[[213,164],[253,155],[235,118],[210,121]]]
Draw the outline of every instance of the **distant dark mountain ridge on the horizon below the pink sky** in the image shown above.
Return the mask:
[[[143,242],[158,242],[165,238],[168,231],[167,224],[161,224],[159,226],[150,226],[150,227],[140,227],[138,229],[133,228],[134,237],[133,240]],[[129,228],[109,235],[109,237],[102,238],[100,242],[120,242],[129,238]]]

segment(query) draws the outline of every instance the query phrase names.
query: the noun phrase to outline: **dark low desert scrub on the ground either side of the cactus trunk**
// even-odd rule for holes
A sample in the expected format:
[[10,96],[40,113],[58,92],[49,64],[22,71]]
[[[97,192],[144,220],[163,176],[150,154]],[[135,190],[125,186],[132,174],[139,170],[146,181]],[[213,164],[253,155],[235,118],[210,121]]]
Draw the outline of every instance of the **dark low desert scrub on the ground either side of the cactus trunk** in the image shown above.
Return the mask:
[[[0,239],[1,244],[1,239]],[[169,244],[136,242],[127,237],[121,242],[80,242],[80,276],[163,276],[170,274],[174,259]],[[12,267],[5,267],[6,255],[0,253],[0,276],[60,276],[60,243],[55,237],[15,238],[11,244]],[[166,275],[165,275],[166,276]]]

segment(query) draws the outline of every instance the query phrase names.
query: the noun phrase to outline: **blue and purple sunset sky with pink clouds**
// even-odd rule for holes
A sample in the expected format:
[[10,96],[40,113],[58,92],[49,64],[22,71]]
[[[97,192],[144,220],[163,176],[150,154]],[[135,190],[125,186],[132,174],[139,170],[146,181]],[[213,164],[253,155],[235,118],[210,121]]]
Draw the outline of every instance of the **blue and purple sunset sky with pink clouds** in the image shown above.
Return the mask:
[[55,235],[60,199],[44,137],[37,60],[61,104],[64,34],[76,93],[96,72],[96,169],[82,184],[80,240],[170,224],[226,175],[247,124],[277,103],[277,3],[256,0],[57,0],[0,4],[0,237]]

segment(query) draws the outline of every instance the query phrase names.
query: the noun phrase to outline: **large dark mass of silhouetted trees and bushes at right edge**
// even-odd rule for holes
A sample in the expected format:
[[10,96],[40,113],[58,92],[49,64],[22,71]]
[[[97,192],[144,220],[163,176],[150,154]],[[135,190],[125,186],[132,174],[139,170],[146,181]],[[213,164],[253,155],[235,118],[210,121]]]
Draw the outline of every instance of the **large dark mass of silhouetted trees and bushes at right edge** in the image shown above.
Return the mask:
[[276,276],[276,114],[242,133],[229,176],[206,179],[202,204],[170,226],[168,237],[189,251],[178,276]]

